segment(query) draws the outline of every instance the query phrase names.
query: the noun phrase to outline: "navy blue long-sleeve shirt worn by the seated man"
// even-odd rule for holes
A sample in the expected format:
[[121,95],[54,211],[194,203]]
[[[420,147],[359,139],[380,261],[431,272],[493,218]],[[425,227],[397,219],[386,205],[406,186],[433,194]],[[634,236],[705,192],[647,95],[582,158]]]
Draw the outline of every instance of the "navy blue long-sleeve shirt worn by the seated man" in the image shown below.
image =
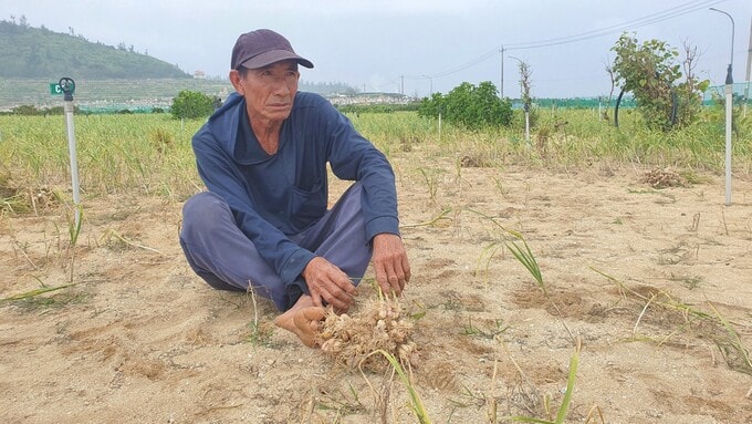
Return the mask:
[[295,95],[273,155],[261,148],[238,93],[196,133],[192,146],[207,188],[228,203],[242,232],[283,281],[295,280],[314,257],[288,235],[326,211],[326,163],[338,178],[362,183],[368,240],[380,232],[399,234],[391,166],[317,94]]

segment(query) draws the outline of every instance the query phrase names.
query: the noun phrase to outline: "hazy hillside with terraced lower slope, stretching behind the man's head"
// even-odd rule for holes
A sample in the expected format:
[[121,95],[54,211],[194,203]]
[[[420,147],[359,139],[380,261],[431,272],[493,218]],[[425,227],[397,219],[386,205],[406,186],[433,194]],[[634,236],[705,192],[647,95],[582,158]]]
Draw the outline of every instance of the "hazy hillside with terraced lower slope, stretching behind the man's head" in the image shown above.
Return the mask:
[[[81,34],[0,21],[0,111],[20,105],[50,107],[61,96],[51,95],[50,83],[61,76],[76,82],[75,100],[83,111],[149,111],[169,107],[181,90],[227,97],[233,91],[227,79],[194,79],[177,65],[117,46],[90,42]],[[347,99],[357,90],[345,83],[301,81],[301,91]]]

